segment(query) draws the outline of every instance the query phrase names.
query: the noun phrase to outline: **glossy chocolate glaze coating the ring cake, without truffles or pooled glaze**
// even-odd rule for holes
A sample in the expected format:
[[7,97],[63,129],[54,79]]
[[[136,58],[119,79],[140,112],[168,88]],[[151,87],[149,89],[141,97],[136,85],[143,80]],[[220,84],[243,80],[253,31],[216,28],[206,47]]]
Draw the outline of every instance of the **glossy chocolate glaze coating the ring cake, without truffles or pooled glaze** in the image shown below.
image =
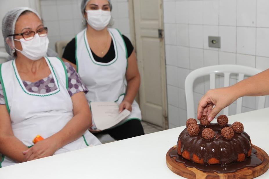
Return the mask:
[[[187,150],[192,160],[193,154],[199,159],[203,159],[203,163],[207,164],[210,158],[216,158],[221,165],[226,165],[237,161],[238,154],[245,154],[248,157],[248,151],[251,148],[250,137],[246,132],[235,133],[230,140],[221,136],[221,129],[231,127],[230,124],[220,126],[218,123],[210,123],[209,126],[199,126],[199,134],[189,136],[187,128],[180,133],[178,140],[181,143],[181,152]],[[213,129],[215,136],[212,140],[205,140],[202,137],[202,131],[205,128]]]

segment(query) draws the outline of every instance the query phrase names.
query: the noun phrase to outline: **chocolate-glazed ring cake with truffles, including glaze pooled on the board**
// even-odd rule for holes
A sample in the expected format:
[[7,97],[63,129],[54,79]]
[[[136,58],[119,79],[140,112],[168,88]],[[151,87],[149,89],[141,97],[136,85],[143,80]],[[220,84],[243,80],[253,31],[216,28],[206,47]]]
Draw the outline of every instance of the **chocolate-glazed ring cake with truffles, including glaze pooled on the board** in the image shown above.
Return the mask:
[[230,125],[225,115],[220,115],[217,122],[210,123],[205,115],[200,124],[193,118],[188,119],[187,127],[178,137],[177,148],[169,156],[176,157],[176,162],[186,167],[217,173],[235,172],[262,163],[242,123]]

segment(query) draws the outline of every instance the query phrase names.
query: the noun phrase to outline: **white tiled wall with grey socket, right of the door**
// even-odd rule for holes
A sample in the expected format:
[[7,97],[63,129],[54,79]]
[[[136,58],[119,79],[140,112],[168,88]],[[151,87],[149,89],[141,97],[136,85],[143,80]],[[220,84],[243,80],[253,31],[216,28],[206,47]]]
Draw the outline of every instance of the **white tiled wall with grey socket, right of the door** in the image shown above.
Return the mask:
[[[192,70],[219,64],[269,68],[268,9],[268,0],[164,0],[170,128],[187,120],[184,82]],[[221,48],[208,47],[208,36],[221,36]],[[219,87],[222,81],[219,77]],[[208,78],[196,80],[196,108],[208,86]],[[243,112],[256,109],[255,101],[244,97]],[[230,111],[235,113],[233,108]]]

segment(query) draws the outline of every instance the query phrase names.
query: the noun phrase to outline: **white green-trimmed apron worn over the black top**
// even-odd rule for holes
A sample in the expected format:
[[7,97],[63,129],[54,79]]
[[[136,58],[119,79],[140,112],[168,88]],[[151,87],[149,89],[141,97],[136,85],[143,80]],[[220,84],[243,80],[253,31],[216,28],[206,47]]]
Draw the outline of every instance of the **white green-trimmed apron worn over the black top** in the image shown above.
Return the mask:
[[[108,31],[115,50],[115,59],[109,63],[94,60],[86,37],[86,29],[76,35],[77,72],[89,89],[86,94],[89,102],[109,101],[120,104],[126,93],[127,49],[120,31],[112,28],[108,28]],[[118,125],[131,119],[141,120],[141,111],[136,101],[133,101],[131,114]]]

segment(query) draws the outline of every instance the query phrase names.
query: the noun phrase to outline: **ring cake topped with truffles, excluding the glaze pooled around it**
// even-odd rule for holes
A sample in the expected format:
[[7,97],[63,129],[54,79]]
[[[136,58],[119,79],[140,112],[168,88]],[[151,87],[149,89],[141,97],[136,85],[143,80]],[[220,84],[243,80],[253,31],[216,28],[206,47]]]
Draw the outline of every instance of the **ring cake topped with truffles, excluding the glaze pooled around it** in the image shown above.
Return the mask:
[[204,115],[197,125],[193,119],[188,119],[188,127],[178,137],[178,154],[187,160],[205,165],[227,165],[242,162],[249,157],[251,141],[243,131],[243,124],[235,122],[230,125],[225,115],[219,116],[217,121],[218,123],[209,123]]

